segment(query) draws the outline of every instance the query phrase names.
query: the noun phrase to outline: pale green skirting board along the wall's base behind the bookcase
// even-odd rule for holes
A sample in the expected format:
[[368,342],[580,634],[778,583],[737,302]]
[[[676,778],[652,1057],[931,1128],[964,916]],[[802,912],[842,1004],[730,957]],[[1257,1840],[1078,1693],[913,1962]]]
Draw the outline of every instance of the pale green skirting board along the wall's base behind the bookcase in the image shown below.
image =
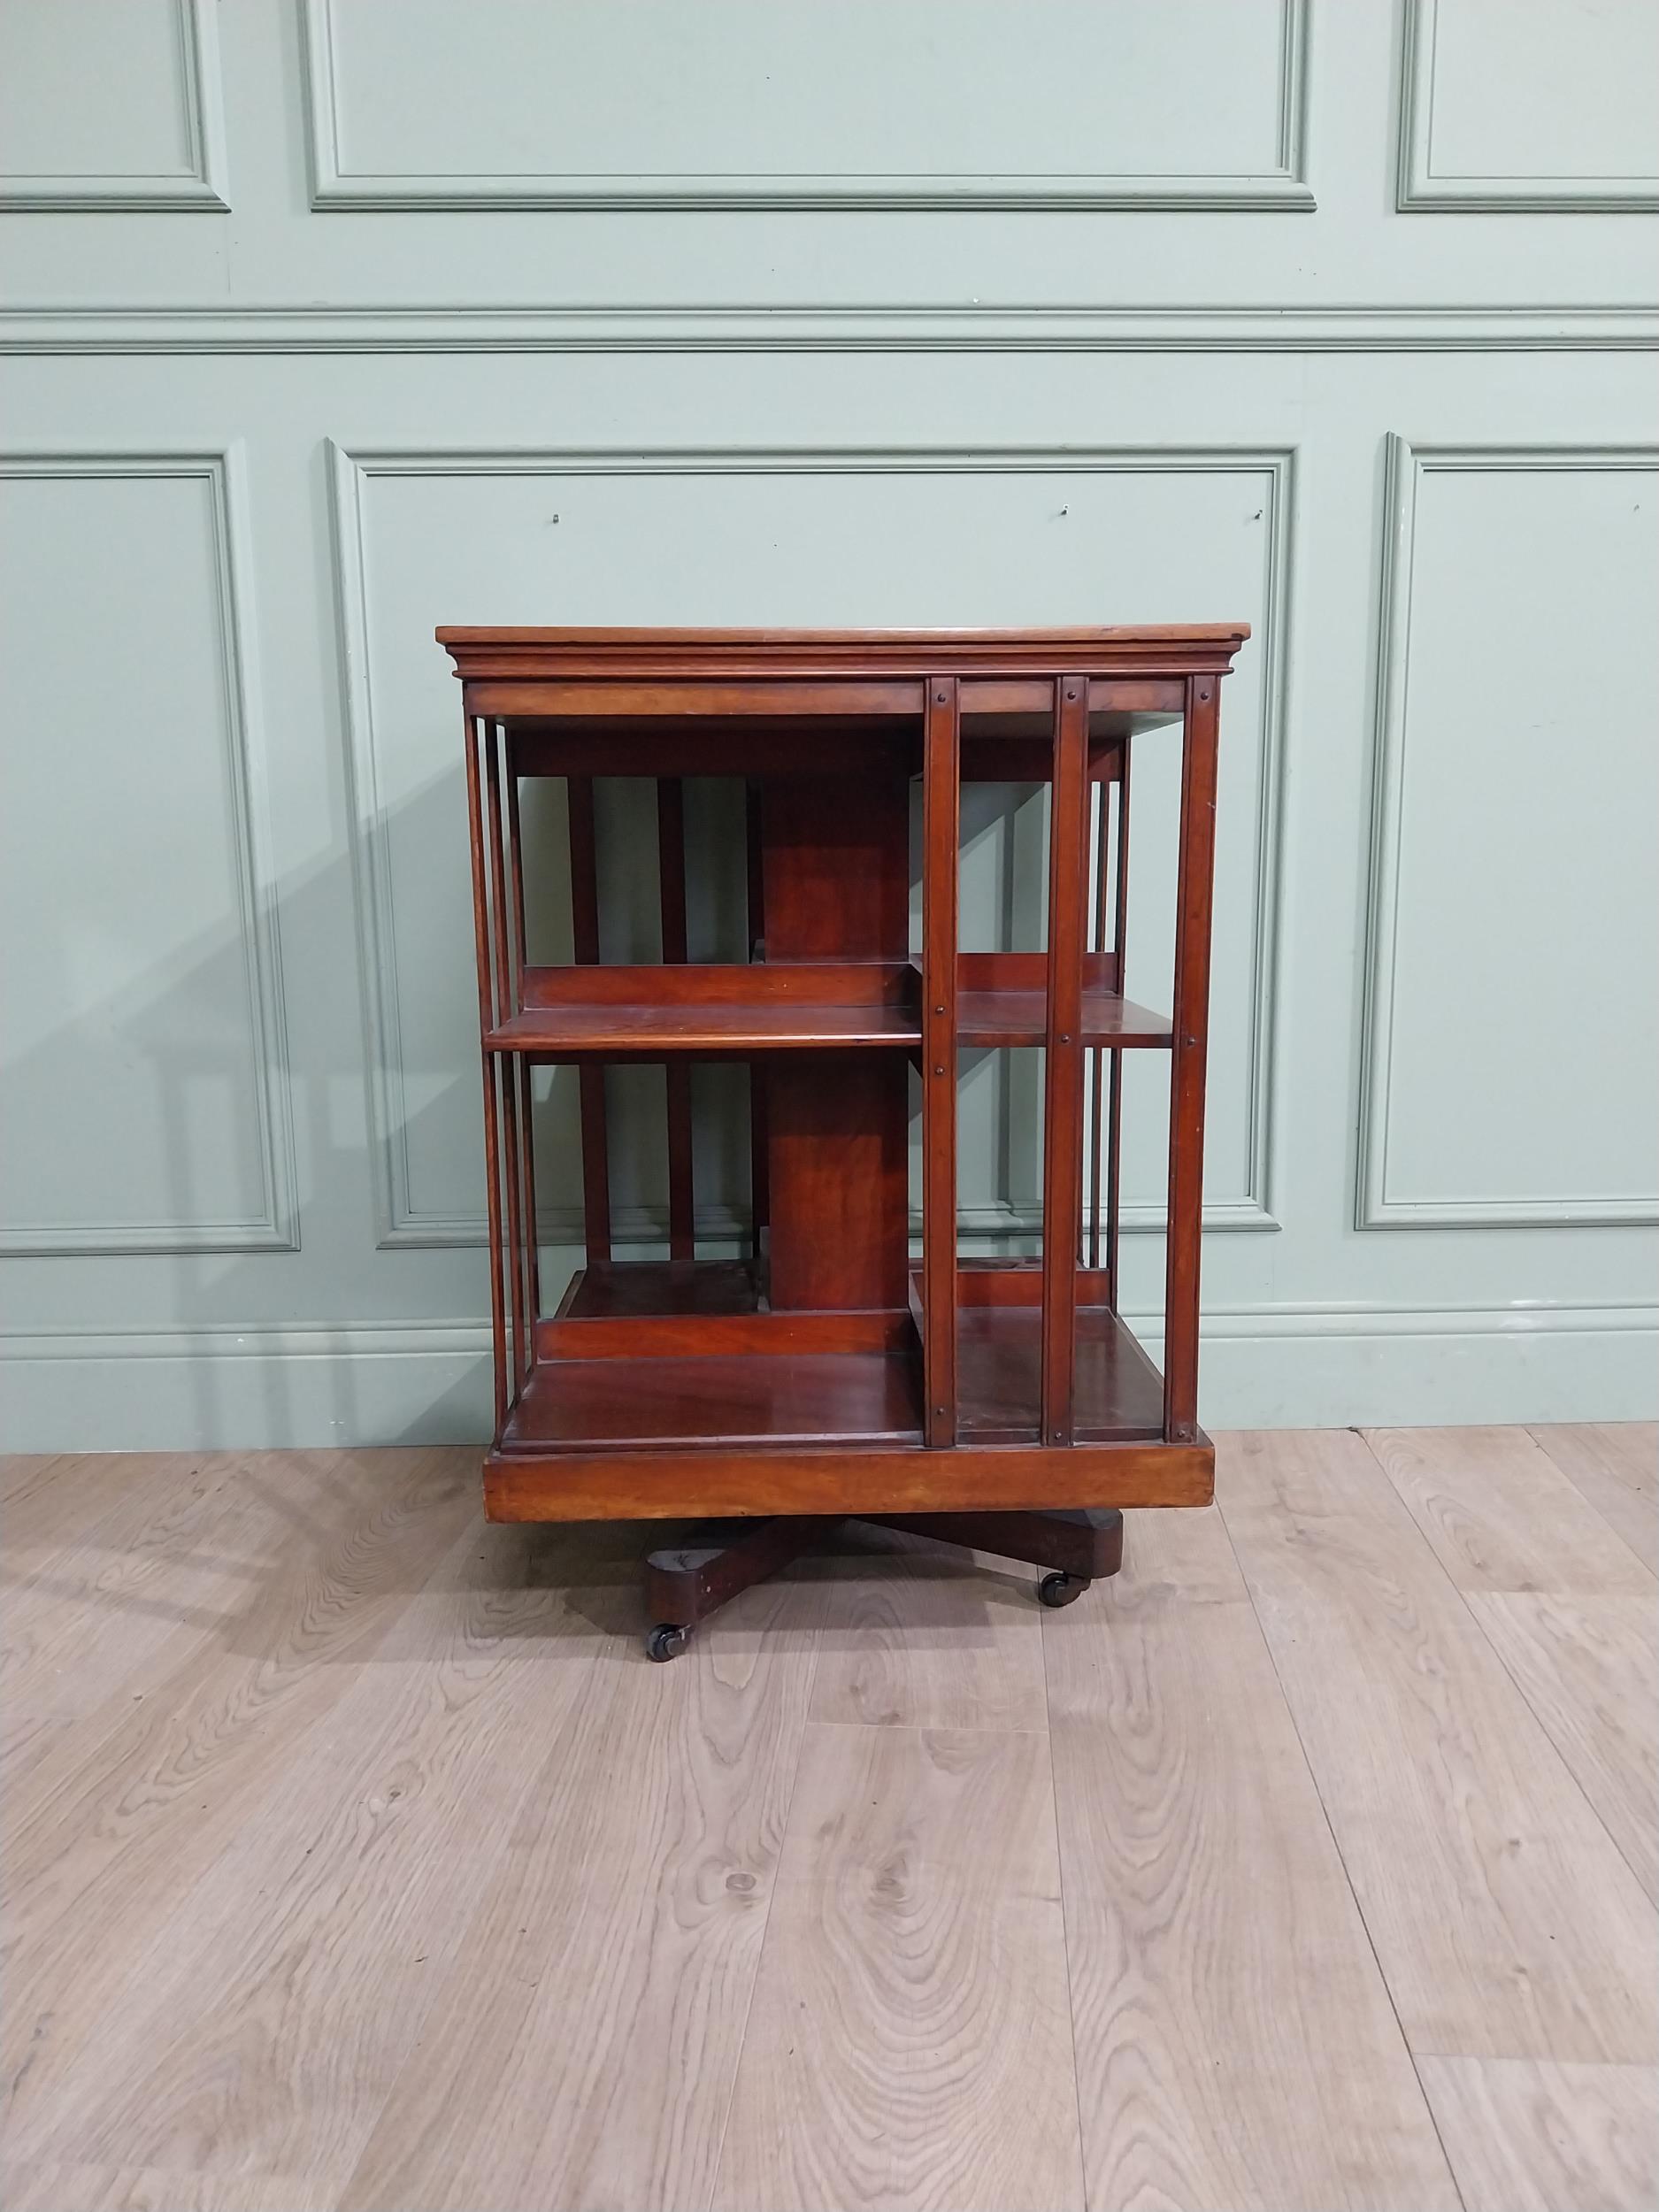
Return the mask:
[[[1157,1358],[1159,1340],[1146,1332]],[[1217,1429],[1652,1420],[1659,1307],[1272,1307],[1203,1323]],[[0,1340],[0,1449],[484,1442],[489,1329],[190,1329]]]

